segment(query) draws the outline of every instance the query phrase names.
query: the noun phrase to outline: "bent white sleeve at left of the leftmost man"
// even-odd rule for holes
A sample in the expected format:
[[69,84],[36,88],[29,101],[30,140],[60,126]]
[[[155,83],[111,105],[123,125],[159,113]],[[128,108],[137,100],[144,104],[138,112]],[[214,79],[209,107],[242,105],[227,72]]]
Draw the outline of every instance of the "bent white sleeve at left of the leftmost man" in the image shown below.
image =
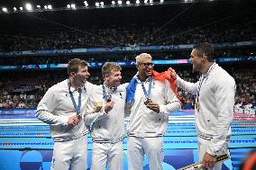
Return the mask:
[[50,125],[67,126],[69,117],[60,117],[52,114],[52,111],[58,106],[57,100],[58,91],[54,88],[50,88],[41,99],[41,102],[37,106],[36,117]]

